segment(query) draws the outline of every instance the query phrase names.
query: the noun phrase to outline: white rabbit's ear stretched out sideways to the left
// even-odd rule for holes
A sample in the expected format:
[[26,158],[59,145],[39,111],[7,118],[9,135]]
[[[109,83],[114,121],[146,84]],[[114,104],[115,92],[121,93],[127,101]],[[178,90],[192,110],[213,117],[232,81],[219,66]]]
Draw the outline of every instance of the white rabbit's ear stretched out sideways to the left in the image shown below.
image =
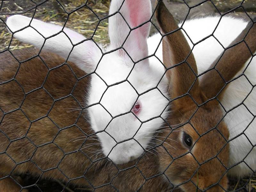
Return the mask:
[[[44,51],[54,52],[62,56],[64,59],[67,59],[70,51],[72,50],[73,45],[71,44],[71,42],[73,44],[77,44],[81,41],[86,40],[83,35],[71,29],[63,29],[63,31],[67,34],[66,35],[63,32],[59,33],[63,28],[61,26],[45,23],[36,19],[33,19],[32,21],[31,20],[31,18],[22,15],[13,15],[7,19],[6,25],[8,29],[12,33],[14,33],[14,37],[19,39],[20,41],[32,44],[39,49],[41,49],[44,45]],[[32,26],[33,28],[30,26]],[[27,28],[18,31],[24,27]],[[57,33],[59,34],[55,35]],[[45,41],[45,38],[48,39],[46,39]],[[92,40],[86,40],[83,43],[78,44],[74,47],[68,60],[74,62],[86,73],[91,73],[94,71],[97,63],[101,58],[101,55],[102,54],[100,48]]]

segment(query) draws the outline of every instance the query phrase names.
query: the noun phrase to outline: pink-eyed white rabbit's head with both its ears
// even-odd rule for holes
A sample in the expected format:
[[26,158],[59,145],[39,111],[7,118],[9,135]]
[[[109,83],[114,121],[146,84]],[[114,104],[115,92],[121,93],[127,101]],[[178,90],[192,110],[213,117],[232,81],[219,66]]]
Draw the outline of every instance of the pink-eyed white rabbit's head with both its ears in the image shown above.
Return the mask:
[[[122,2],[113,0],[110,14],[116,13]],[[137,14],[134,15],[132,12]],[[150,20],[150,0],[126,0],[120,13],[129,26],[135,28]],[[128,162],[143,153],[156,129],[163,124],[162,118],[167,117],[169,103],[168,97],[164,97],[168,95],[168,87],[163,65],[158,60],[155,60],[154,65],[149,65],[148,59],[141,60],[148,56],[147,38],[150,22],[130,33],[130,28],[120,13],[109,18],[111,43],[105,50],[101,45],[95,44],[92,40],[85,40],[82,35],[68,28],[63,30],[73,44],[85,40],[74,47],[68,60],[75,62],[88,74],[95,71],[91,75],[89,96],[85,99],[90,106],[88,115],[104,154],[117,164]],[[28,26],[30,21],[31,18],[15,15],[8,18],[6,24],[15,32]],[[14,37],[39,48],[44,44],[44,37],[50,37],[62,29],[61,26],[36,19],[32,20],[30,26],[14,33]],[[43,50],[67,58],[72,49],[67,36],[61,32],[57,36],[47,38]],[[124,49],[105,54],[120,48],[122,44],[131,58]],[[131,59],[135,62],[141,61],[134,65]]]

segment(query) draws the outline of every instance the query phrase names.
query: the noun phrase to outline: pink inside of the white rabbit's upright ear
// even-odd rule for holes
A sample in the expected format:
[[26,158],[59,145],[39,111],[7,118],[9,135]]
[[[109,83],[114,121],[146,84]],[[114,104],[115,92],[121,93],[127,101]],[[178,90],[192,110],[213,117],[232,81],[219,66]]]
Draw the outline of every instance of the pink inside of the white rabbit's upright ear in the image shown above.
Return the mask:
[[[131,28],[136,28],[142,23],[150,20],[151,17],[151,3],[150,0],[112,0],[112,2],[118,2],[119,6],[124,1],[120,9],[120,13]],[[124,30],[124,33],[120,33],[121,40],[124,41],[129,30],[126,23],[119,17],[119,22],[115,23],[120,31]],[[121,26],[120,26],[121,24]],[[124,25],[122,27],[122,25]],[[124,49],[132,57],[132,60],[138,61],[148,55],[147,37],[149,34],[150,22],[143,26],[131,31],[127,40],[124,43]],[[118,34],[119,35],[119,34]],[[115,37],[116,38],[116,37]],[[114,38],[113,38],[114,39]],[[123,43],[118,42],[118,43]],[[124,50],[118,51],[119,55],[124,54]],[[125,55],[125,54],[124,54]]]

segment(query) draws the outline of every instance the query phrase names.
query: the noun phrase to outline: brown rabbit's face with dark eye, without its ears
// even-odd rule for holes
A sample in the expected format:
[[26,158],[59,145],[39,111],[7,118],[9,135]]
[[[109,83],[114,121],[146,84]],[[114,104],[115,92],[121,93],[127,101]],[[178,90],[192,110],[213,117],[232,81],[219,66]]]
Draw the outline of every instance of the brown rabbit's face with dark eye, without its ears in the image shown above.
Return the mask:
[[196,186],[209,188],[207,191],[227,189],[229,133],[220,122],[223,112],[218,102],[212,100],[200,107],[192,99],[182,103],[189,107],[173,111],[175,115],[168,121],[171,128],[160,135],[164,141],[159,148],[161,171],[184,191],[196,191]]

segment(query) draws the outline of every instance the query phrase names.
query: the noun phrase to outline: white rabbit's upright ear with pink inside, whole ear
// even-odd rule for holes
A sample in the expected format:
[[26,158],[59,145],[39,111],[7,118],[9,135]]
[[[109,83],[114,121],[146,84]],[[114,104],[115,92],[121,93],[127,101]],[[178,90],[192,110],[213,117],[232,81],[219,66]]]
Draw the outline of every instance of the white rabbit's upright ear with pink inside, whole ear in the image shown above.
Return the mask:
[[[134,61],[147,57],[147,38],[152,15],[150,0],[112,0],[109,14],[115,12],[118,13],[109,17],[109,38],[112,48],[115,49],[122,46],[130,32],[130,28],[136,28],[148,21],[141,27],[132,30],[123,46]],[[120,49],[119,53],[124,55],[124,50]]]

